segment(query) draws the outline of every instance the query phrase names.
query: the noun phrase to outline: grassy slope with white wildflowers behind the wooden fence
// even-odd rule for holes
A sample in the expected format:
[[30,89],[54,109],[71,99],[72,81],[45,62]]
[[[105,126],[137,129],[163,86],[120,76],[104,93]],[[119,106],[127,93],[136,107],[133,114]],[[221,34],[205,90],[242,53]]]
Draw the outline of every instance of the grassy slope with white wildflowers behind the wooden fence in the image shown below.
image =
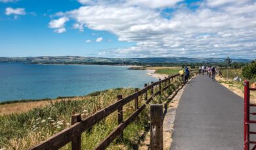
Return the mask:
[[[154,98],[152,103],[161,104],[165,102],[167,95],[170,95],[180,84],[181,82],[176,80],[166,93]],[[28,110],[12,112],[12,114],[8,115],[2,114],[0,116],[0,149],[28,149],[60,130],[70,127],[70,117],[72,114],[81,113],[83,118],[87,117],[116,102],[117,95],[127,97],[134,92],[134,89],[110,89],[79,97],[76,100],[62,99],[54,102],[45,100],[43,101],[43,106],[38,107],[35,105],[33,108],[32,104]],[[140,97],[139,106],[142,105],[142,102],[144,102],[144,99]],[[126,104],[123,107],[124,119],[134,111],[133,101]],[[114,141],[108,149],[137,149],[142,133],[146,132],[149,128],[148,111],[149,106],[139,115],[136,122],[131,123],[125,129],[123,140]],[[115,127],[117,127],[117,112],[112,113],[92,127],[91,130],[87,130],[82,134],[83,149],[93,149]],[[70,149],[70,144],[62,149]]]

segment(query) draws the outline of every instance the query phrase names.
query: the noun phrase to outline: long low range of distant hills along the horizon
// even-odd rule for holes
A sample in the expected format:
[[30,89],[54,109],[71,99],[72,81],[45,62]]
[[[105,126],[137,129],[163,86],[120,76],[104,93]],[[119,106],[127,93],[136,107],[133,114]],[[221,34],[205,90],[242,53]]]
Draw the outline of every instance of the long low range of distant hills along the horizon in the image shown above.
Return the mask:
[[[224,58],[148,57],[104,58],[80,56],[0,57],[0,63],[35,64],[138,64],[138,63],[223,63]],[[232,59],[233,62],[250,63],[249,59]]]

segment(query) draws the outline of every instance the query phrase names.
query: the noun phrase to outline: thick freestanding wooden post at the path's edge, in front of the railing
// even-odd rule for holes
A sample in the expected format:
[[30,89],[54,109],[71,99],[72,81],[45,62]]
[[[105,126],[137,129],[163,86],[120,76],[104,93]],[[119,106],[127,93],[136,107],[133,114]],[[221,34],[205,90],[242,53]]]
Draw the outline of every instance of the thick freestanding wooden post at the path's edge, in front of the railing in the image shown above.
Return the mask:
[[150,149],[163,149],[163,105],[150,105]]

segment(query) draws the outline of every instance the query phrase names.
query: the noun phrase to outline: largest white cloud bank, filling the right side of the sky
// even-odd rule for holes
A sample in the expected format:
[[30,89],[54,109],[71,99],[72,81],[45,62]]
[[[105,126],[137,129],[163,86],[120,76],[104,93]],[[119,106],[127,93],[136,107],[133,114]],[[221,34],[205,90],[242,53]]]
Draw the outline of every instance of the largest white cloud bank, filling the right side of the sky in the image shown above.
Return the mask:
[[[154,7],[154,1],[146,6],[150,0],[80,2],[85,6],[64,12],[77,29],[109,31],[120,41],[136,43],[102,50],[106,57],[256,57],[256,3],[250,0],[205,0],[196,10],[175,7],[179,1]],[[175,7],[164,12],[170,19],[162,16],[168,7]]]

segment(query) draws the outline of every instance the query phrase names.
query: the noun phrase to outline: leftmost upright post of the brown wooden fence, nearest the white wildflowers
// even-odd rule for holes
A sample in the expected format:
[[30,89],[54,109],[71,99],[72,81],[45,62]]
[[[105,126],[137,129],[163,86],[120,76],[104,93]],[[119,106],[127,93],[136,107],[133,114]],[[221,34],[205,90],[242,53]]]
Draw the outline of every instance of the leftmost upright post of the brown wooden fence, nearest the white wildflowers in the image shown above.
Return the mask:
[[[71,116],[71,125],[74,125],[77,122],[81,122],[81,114],[75,114]],[[72,140],[71,147],[72,150],[81,149],[81,135]]]

